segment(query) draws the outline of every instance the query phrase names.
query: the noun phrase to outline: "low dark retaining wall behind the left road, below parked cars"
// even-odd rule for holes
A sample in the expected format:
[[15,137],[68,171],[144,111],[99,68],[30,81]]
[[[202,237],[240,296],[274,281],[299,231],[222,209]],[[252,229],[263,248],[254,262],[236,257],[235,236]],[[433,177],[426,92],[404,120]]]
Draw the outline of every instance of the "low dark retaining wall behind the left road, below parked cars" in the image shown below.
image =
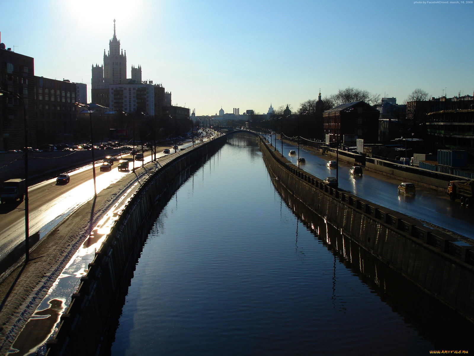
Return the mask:
[[[105,156],[115,154],[118,154],[118,150],[94,150],[94,160],[98,161],[104,159]],[[28,179],[67,172],[91,163],[91,161],[90,150],[30,152],[28,154]],[[0,168],[0,187],[2,182],[8,179],[25,178],[23,153],[0,153]]]

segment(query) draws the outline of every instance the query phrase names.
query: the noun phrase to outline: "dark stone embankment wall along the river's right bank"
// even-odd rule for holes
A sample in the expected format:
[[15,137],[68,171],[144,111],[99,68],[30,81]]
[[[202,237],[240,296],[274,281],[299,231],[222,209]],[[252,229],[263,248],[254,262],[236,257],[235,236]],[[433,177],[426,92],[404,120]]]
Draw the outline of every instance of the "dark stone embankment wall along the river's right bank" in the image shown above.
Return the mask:
[[265,163],[311,210],[393,270],[474,322],[474,247],[322,180],[260,141]]

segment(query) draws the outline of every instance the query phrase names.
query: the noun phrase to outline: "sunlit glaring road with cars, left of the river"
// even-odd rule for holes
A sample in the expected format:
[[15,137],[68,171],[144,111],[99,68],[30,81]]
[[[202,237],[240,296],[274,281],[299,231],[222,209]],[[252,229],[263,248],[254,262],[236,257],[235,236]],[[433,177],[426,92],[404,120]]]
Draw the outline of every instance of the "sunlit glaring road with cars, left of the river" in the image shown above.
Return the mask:
[[[206,141],[206,140],[205,140]],[[191,141],[179,145],[178,150],[192,146]],[[156,158],[167,156],[164,148],[157,148]],[[158,152],[159,150],[159,152]],[[175,150],[170,149],[173,154]],[[146,151],[144,164],[151,161],[151,151]],[[122,155],[123,159],[132,160],[130,155]],[[95,163],[97,192],[117,183],[128,174],[133,174],[133,167],[142,165],[142,161],[130,162],[129,171],[118,171],[114,162],[110,171],[101,172],[101,162]],[[94,196],[92,165],[75,169],[68,173],[70,182],[57,185],[56,178],[48,179],[28,188],[29,200],[29,233],[39,232],[43,238],[51,229],[59,224],[79,206]],[[25,204],[2,204],[0,206],[0,259],[3,259],[15,246],[25,240]]]

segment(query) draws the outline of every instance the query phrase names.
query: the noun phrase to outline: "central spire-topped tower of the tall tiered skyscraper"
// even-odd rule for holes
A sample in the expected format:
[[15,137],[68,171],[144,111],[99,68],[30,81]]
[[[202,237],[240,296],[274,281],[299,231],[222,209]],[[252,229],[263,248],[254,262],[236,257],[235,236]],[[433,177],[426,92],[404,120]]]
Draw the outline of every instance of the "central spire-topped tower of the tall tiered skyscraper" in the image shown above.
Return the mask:
[[[114,37],[109,41],[109,53],[105,54],[104,49],[104,83],[124,84],[127,80],[127,51],[120,51],[120,41],[115,32]],[[141,82],[141,81],[140,81]]]

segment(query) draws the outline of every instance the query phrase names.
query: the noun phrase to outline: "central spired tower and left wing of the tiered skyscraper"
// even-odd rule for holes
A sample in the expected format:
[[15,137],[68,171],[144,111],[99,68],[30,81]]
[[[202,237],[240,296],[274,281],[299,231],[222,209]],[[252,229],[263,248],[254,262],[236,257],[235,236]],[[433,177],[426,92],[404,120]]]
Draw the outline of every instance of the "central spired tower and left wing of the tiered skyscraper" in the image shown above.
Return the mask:
[[[141,69],[141,68],[140,68]],[[114,37],[109,41],[109,53],[105,53],[103,66],[92,66],[92,89],[105,89],[108,84],[127,82],[127,51],[120,50],[114,19]]]

